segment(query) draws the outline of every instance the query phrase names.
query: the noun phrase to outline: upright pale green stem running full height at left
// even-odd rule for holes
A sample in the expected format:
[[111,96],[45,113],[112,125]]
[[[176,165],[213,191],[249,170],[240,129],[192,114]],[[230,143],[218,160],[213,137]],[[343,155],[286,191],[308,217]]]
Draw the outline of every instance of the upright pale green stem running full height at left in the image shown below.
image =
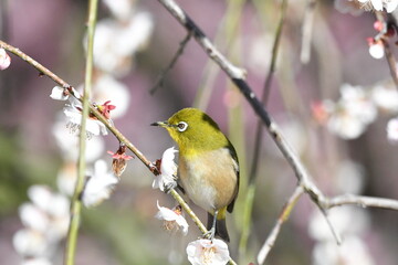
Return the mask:
[[84,94],[83,94],[83,110],[82,121],[80,128],[80,142],[78,142],[78,171],[77,180],[74,190],[74,194],[71,201],[71,222],[66,236],[64,264],[74,265],[76,246],[77,246],[77,233],[81,221],[82,201],[81,194],[84,189],[85,178],[85,149],[86,149],[86,119],[90,112],[91,87],[93,80],[93,46],[94,46],[94,33],[97,14],[98,0],[90,0],[88,2],[88,21],[87,21],[87,55],[86,55],[86,67],[85,67],[85,82],[84,82]]

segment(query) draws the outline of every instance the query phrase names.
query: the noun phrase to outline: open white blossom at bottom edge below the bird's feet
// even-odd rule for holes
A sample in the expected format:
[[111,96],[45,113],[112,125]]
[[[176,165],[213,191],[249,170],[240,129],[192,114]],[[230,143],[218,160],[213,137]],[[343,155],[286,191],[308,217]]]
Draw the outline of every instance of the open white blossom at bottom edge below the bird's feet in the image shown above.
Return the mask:
[[230,259],[228,245],[222,240],[197,240],[187,246],[192,265],[224,265]]

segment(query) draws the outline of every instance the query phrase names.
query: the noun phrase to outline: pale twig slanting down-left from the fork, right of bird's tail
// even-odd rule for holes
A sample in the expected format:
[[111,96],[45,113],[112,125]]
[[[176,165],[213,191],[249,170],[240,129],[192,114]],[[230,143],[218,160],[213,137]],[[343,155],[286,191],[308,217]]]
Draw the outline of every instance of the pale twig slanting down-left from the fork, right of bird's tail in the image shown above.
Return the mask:
[[297,186],[293,192],[293,194],[289,198],[287,202],[284,204],[281,214],[279,215],[274,227],[272,229],[271,233],[266,237],[263,246],[261,247],[259,255],[258,255],[258,263],[264,264],[265,258],[272,247],[274,246],[277,235],[282,229],[282,224],[289,219],[295,203],[298,201],[298,198],[304,194],[304,189]]

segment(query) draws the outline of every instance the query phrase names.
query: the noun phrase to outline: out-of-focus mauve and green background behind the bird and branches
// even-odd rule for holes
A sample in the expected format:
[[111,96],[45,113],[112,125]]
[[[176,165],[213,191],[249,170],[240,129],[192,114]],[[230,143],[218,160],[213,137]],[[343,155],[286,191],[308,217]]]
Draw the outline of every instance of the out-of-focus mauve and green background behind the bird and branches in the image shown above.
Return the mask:
[[[366,40],[378,33],[374,29],[375,14],[353,9],[353,15],[348,8],[344,13],[342,2],[287,2],[266,109],[325,194],[348,192],[398,199],[398,149],[386,132],[388,120],[398,113],[397,89],[386,60],[369,54]],[[149,124],[165,120],[184,107],[206,110],[229,135],[241,165],[238,203],[228,216],[231,256],[239,264],[255,262],[296,184],[291,167],[264,131],[251,231],[247,244],[241,242],[242,230],[249,227],[243,222],[244,201],[254,146],[259,145],[254,141],[255,114],[195,40],[188,42],[163,85],[154,89],[186,31],[157,1],[100,3],[93,100],[112,100],[116,106],[115,126],[153,161],[174,142],[166,131]],[[248,83],[260,97],[282,13],[281,1],[178,3],[228,59],[247,70]],[[0,11],[1,40],[81,87],[86,1],[1,0]],[[391,43],[395,41],[391,38]],[[391,49],[394,52],[396,46],[391,44]],[[40,204],[34,195],[38,186],[48,187],[52,197],[71,194],[76,140],[66,128],[65,103],[50,98],[55,84],[19,57],[10,56],[10,67],[0,73],[1,263],[21,264],[39,255],[52,264],[62,264],[62,236],[46,242],[48,248],[42,246],[38,231],[34,240],[24,237],[35,221],[27,218],[30,214],[25,214],[23,205]],[[347,110],[350,108],[366,118],[352,117]],[[88,168],[103,159],[111,170],[112,157],[106,150],[117,148],[112,135],[93,136]],[[151,188],[153,179],[145,166],[133,159],[111,199],[83,209],[76,264],[188,263],[186,246],[199,231],[190,220],[187,236],[163,230],[161,222],[154,218],[156,202],[169,208],[175,202]],[[206,220],[206,213],[192,208]],[[62,215],[45,214],[49,222]],[[317,208],[303,195],[283,225],[268,264],[398,263],[397,212],[343,206],[333,209],[329,215],[344,240],[341,247]]]

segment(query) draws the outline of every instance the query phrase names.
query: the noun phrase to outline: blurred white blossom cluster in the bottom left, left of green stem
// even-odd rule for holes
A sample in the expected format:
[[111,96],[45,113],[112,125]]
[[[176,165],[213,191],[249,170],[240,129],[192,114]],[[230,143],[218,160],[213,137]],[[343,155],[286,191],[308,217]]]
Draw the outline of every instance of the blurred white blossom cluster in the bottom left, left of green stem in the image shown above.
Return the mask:
[[19,208],[23,229],[15,232],[13,246],[22,264],[50,265],[51,256],[66,235],[70,222],[70,200],[46,186],[28,190],[30,202]]

